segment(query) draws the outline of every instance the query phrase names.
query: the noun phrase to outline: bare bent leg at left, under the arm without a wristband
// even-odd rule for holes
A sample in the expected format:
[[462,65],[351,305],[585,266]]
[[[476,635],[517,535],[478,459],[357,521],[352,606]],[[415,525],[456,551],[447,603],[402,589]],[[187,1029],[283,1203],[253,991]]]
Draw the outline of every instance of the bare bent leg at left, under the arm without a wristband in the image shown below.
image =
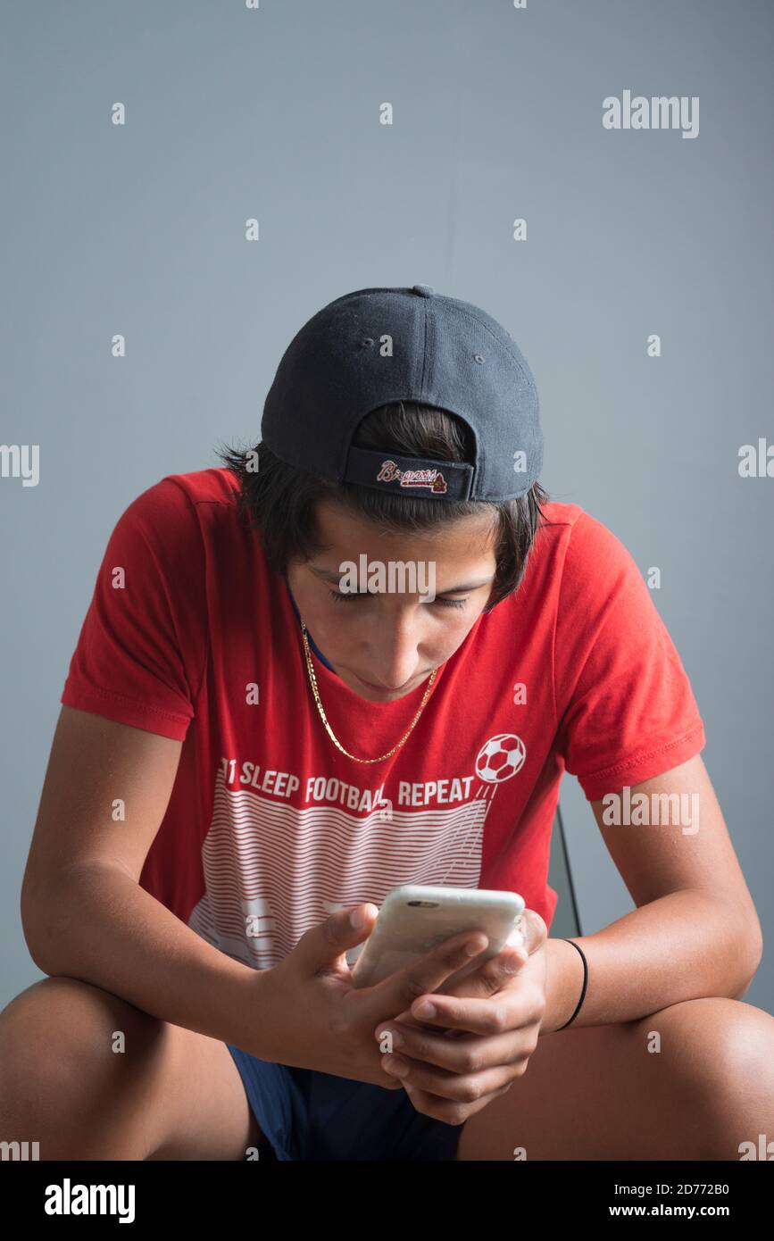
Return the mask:
[[225,1042],[63,977],[0,1013],[0,1140],[37,1140],[41,1159],[244,1159],[264,1143]]

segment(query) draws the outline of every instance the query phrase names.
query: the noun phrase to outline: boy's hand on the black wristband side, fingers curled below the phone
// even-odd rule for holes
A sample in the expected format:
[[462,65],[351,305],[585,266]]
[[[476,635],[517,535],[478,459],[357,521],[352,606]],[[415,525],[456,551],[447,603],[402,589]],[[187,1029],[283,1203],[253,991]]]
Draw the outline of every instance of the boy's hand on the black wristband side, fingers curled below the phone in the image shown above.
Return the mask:
[[[461,1124],[526,1071],[546,1010],[548,931],[535,910],[525,910],[521,931],[452,990],[418,995],[376,1026],[377,1041],[389,1031],[396,1051],[385,1054],[385,1071],[406,1065],[397,1080],[418,1112]],[[506,970],[511,963],[516,973]],[[435,1014],[427,1015],[424,1004]]]

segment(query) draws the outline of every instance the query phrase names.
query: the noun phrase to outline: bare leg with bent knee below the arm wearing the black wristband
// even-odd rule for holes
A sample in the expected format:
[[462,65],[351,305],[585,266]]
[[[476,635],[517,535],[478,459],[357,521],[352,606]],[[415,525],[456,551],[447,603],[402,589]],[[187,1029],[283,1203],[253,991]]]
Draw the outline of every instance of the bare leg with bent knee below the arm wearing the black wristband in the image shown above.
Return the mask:
[[696,999],[543,1035],[523,1076],[465,1123],[458,1159],[738,1160],[759,1133],[774,1138],[774,1018]]

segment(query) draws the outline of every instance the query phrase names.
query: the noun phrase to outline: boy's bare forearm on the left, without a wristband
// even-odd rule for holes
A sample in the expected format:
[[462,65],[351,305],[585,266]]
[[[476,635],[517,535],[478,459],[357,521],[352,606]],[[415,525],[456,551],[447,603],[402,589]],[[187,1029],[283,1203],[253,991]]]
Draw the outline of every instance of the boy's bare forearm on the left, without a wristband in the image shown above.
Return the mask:
[[118,866],[69,869],[52,889],[31,882],[25,894],[25,934],[43,973],[260,1055],[264,970],[208,944]]

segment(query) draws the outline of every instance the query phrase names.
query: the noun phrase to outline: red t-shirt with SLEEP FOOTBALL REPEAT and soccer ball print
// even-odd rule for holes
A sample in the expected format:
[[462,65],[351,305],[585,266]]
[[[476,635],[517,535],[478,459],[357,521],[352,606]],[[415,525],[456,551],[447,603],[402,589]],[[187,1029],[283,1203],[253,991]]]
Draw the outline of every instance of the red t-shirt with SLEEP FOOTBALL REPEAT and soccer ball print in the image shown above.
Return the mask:
[[[440,666],[408,741],[365,766],[325,732],[288,586],[236,488],[226,469],[174,474],[129,505],[61,699],[184,741],[143,887],[258,968],[398,884],[516,891],[549,926],[564,769],[595,800],[705,745],[626,549],[577,505],[548,504],[518,589]],[[391,750],[427,683],[370,702],[313,661],[341,745],[363,758]]]

